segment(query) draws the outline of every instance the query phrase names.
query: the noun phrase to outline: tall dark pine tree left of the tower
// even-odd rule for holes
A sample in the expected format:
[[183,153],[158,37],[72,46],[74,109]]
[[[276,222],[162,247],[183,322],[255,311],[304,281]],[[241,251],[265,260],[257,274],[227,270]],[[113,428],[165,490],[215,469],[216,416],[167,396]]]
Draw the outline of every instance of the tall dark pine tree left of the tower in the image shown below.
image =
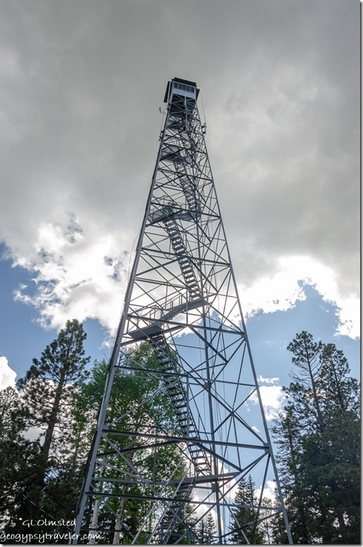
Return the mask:
[[[61,483],[65,461],[69,457],[69,436],[72,417],[69,407],[74,386],[86,378],[84,339],[86,333],[77,320],[67,321],[40,359],[33,359],[26,376],[18,380],[21,397],[21,411],[18,416],[26,422],[25,438],[31,441],[31,452],[26,466],[28,474],[21,490],[23,500],[14,507],[5,531],[23,531],[21,521],[32,521],[32,532],[38,531],[37,522],[50,514],[50,508],[57,509],[56,519],[62,519],[62,512],[69,514],[67,500],[62,499],[59,490],[52,483]],[[53,490],[53,492],[52,492]],[[49,533],[52,530],[47,529]]]

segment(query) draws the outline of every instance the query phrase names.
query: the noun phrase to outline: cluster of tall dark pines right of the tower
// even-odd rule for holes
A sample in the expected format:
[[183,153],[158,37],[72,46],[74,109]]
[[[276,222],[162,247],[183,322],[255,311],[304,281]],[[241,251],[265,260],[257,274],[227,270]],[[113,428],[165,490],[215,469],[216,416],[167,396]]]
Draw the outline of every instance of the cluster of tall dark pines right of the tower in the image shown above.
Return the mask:
[[[359,386],[334,344],[297,334],[294,380],[274,427],[296,543],[359,543]],[[278,528],[278,526],[277,526]],[[286,538],[277,532],[277,541]]]

